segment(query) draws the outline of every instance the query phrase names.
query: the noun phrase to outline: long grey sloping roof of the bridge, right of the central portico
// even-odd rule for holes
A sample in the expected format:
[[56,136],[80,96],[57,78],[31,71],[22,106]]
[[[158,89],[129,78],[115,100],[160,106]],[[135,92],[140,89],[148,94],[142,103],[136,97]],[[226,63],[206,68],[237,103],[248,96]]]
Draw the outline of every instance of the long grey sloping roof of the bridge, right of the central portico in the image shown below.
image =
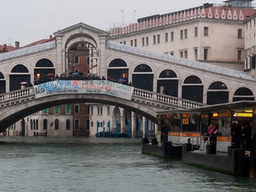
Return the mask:
[[150,57],[151,59],[158,59],[161,61],[173,62],[176,64],[184,65],[186,67],[193,67],[195,69],[207,70],[208,72],[219,73],[221,75],[228,75],[231,77],[241,78],[244,80],[256,81],[255,78],[253,78],[248,73],[245,73],[245,72],[242,72],[239,70],[228,69],[226,67],[218,67],[216,65],[211,65],[211,64],[197,62],[197,61],[191,61],[189,59],[173,57],[173,56],[169,56],[167,54],[159,54],[157,52],[148,51],[148,50],[144,50],[144,49],[138,49],[138,48],[134,48],[132,46],[127,46],[127,45],[124,45],[121,43],[116,43],[113,41],[108,41],[106,43],[106,47],[111,48],[111,49],[116,49],[118,51],[128,52],[131,54],[137,54],[137,55],[143,56],[143,57]]

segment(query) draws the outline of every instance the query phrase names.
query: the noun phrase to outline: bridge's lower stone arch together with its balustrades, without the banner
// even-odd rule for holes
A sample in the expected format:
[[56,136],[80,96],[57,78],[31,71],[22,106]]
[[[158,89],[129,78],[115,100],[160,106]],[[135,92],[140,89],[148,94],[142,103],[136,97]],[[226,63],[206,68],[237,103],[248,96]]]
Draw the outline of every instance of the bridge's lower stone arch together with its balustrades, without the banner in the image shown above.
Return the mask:
[[202,103],[136,88],[134,88],[132,99],[129,101],[98,93],[54,94],[36,98],[34,88],[30,87],[0,94],[0,131],[4,131],[13,123],[35,112],[56,105],[75,102],[101,103],[122,107],[137,112],[153,122],[156,122],[157,112],[161,110],[192,109],[203,106]]

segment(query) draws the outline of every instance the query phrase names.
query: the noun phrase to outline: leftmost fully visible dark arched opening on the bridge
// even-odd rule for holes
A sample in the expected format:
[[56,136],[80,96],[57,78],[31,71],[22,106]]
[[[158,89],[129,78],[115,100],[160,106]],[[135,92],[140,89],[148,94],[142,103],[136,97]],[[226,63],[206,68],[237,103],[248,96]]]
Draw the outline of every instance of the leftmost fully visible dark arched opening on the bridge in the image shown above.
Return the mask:
[[23,81],[30,84],[30,73],[24,65],[15,65],[10,73],[10,91],[20,90],[20,83]]

